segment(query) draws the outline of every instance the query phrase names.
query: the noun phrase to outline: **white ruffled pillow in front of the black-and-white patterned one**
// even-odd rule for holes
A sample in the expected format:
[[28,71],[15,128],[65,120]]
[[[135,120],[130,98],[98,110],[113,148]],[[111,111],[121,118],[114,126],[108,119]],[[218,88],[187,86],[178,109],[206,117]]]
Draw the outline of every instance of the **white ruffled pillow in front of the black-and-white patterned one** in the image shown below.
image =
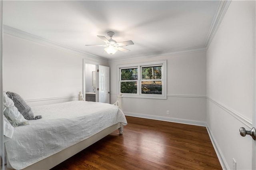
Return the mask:
[[4,115],[13,127],[28,125],[26,120],[15,107],[14,102],[4,93]]

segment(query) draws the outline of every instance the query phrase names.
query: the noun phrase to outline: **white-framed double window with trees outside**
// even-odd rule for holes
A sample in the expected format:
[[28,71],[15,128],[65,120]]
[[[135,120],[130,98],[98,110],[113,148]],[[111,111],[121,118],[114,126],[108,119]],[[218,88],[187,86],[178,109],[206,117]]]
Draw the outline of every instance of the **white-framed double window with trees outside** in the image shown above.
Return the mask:
[[124,97],[166,99],[166,60],[118,65],[118,93]]

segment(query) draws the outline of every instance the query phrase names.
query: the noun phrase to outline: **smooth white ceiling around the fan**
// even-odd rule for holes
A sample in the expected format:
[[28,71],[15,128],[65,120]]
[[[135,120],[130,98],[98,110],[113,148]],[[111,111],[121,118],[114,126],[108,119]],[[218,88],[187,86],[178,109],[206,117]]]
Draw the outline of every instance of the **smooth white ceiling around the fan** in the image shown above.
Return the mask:
[[[4,1],[3,24],[79,51],[114,59],[206,45],[220,1]],[[132,40],[103,53],[97,35]]]

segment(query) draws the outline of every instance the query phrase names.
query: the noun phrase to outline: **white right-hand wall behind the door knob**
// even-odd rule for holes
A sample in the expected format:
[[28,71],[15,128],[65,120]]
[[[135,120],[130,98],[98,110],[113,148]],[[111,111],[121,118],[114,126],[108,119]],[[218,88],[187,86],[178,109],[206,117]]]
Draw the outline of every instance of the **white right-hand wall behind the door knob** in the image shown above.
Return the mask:
[[232,1],[207,50],[207,123],[227,169],[252,169],[255,1]]

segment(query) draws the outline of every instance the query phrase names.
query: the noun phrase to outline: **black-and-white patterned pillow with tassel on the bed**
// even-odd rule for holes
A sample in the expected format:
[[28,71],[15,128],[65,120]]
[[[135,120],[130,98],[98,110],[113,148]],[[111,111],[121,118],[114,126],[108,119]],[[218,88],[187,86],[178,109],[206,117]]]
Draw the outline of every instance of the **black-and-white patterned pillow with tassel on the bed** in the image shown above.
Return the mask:
[[14,102],[14,105],[17,107],[18,111],[20,112],[20,114],[23,115],[23,117],[25,119],[27,119],[27,120],[36,120],[36,119],[41,119],[42,118],[41,115],[34,117],[34,114],[31,110],[31,107],[17,93],[7,91],[6,95],[10,99],[12,99],[12,101]]

